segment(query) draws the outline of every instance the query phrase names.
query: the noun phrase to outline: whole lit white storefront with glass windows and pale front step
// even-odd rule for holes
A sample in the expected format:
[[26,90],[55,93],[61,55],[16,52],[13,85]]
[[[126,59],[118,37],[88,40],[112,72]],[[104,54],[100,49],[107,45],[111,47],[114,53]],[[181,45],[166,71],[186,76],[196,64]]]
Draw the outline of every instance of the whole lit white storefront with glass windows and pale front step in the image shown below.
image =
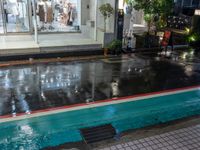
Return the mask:
[[[71,45],[99,47],[105,39],[99,7],[105,3],[115,10],[116,0],[0,0],[0,42],[5,43],[0,49],[20,49],[24,45],[17,42],[23,43],[24,39],[28,40],[26,47],[37,50],[58,46],[66,49]],[[115,18],[113,14],[106,20],[111,40],[115,36]],[[10,41],[16,45],[8,44]]]

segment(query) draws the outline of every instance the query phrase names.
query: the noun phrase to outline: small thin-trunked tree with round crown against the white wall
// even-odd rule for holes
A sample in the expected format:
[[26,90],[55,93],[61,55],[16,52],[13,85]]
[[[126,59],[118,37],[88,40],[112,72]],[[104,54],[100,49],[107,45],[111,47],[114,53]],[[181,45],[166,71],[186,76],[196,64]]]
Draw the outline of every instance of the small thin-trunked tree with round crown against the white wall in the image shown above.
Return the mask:
[[104,17],[104,32],[106,32],[106,20],[110,18],[111,15],[113,15],[114,9],[109,3],[106,3],[102,4],[99,7],[99,10]]

